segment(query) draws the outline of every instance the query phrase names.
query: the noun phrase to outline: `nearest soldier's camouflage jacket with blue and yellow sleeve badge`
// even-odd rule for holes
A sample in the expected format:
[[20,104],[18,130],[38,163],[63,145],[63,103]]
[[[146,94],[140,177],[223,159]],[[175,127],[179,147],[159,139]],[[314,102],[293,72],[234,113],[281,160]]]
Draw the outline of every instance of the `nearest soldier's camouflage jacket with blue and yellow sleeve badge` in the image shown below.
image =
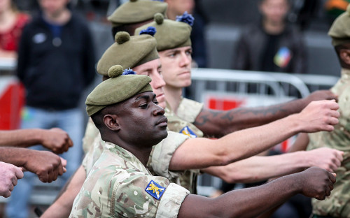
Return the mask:
[[132,153],[105,143],[69,217],[177,217],[188,194],[165,177],[151,175]]

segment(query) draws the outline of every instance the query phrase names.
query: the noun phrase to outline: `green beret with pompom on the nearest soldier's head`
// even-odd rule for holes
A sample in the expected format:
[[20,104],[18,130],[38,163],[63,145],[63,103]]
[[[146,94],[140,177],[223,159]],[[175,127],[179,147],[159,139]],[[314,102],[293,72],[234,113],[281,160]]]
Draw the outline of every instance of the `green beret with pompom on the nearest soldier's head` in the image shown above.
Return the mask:
[[147,75],[123,75],[123,66],[109,68],[109,79],[101,82],[87,96],[85,101],[87,115],[94,115],[99,110],[115,103],[130,99],[142,92],[152,92]]

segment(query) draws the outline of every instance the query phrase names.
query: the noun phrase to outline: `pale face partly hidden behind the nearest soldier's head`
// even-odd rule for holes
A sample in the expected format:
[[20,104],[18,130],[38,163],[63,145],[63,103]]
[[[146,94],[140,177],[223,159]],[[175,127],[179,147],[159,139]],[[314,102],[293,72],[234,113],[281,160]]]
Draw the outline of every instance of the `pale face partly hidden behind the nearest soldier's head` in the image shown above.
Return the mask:
[[160,64],[160,59],[155,59],[153,61],[148,61],[145,64],[135,66],[132,68],[139,75],[148,75],[152,82],[151,87],[153,92],[157,96],[158,106],[165,108],[165,95],[163,92],[163,87],[165,87],[165,81],[162,78],[162,65]]

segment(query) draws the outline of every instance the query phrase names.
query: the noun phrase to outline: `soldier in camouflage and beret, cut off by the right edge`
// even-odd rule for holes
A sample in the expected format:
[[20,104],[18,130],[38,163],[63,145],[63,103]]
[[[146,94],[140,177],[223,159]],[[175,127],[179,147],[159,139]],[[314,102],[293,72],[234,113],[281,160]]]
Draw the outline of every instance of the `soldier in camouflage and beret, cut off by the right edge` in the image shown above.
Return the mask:
[[309,134],[308,150],[331,147],[344,152],[344,161],[335,173],[337,183],[332,196],[325,201],[312,201],[314,217],[350,217],[350,6],[342,13],[328,34],[332,37],[339,62],[342,66],[341,78],[330,89],[339,96],[339,124],[331,132]]

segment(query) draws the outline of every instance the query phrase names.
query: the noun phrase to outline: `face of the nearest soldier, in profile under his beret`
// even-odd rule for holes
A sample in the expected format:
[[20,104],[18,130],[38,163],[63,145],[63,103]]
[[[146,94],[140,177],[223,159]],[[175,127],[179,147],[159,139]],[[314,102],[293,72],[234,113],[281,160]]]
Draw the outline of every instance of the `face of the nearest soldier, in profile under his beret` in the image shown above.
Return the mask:
[[167,118],[164,113],[153,92],[137,94],[120,103],[120,137],[134,145],[152,146],[160,143],[167,137]]

